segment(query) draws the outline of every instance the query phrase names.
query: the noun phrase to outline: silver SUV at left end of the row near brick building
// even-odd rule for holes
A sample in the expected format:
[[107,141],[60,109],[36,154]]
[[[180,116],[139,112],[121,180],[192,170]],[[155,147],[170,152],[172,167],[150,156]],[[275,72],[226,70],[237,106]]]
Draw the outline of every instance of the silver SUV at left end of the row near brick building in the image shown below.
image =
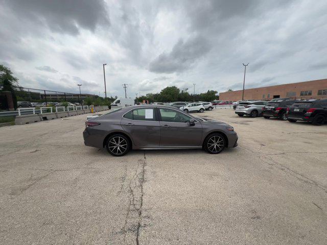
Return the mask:
[[235,113],[239,116],[248,115],[250,117],[257,117],[262,115],[262,108],[267,105],[266,101],[244,101],[236,107]]

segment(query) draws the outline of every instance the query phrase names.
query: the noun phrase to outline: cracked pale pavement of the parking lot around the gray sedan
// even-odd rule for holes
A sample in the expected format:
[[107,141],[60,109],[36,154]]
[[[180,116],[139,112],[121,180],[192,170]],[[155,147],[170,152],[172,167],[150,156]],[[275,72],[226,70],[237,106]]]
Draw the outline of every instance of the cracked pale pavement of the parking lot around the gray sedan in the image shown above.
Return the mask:
[[0,128],[2,244],[327,244],[327,126],[198,114],[239,146],[84,146],[86,115]]

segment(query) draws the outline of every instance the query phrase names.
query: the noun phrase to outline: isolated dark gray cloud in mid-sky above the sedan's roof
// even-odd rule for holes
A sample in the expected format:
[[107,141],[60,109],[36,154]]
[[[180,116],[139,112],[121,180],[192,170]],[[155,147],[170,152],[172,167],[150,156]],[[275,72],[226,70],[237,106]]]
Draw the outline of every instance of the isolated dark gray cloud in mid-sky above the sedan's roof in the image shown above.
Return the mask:
[[180,39],[170,53],[162,53],[150,62],[149,70],[156,73],[173,73],[190,69],[210,50],[209,42],[201,36],[184,42]]

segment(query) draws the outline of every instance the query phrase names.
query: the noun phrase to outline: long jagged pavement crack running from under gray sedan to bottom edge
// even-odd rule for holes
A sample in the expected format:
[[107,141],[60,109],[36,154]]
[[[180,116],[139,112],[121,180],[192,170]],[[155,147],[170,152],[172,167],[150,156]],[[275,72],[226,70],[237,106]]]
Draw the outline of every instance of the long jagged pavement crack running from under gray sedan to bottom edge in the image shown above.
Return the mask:
[[[129,204],[127,213],[125,216],[124,227],[120,233],[124,233],[124,241],[126,242],[127,232],[136,233],[135,242],[139,244],[139,234],[142,228],[142,208],[143,208],[143,185],[145,182],[145,167],[146,167],[146,155],[144,153],[143,159],[139,159],[135,174],[129,182]],[[141,169],[140,169],[141,168]],[[127,228],[128,223],[131,223],[130,228]]]

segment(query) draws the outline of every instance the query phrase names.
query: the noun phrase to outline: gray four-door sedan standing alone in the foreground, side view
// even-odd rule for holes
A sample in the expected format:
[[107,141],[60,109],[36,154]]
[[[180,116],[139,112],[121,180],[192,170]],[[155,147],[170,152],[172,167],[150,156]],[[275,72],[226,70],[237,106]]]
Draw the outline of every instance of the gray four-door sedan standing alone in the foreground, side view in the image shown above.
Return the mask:
[[194,117],[171,106],[129,106],[85,122],[87,146],[106,148],[113,156],[131,149],[198,149],[217,154],[236,147],[233,127],[221,121]]

